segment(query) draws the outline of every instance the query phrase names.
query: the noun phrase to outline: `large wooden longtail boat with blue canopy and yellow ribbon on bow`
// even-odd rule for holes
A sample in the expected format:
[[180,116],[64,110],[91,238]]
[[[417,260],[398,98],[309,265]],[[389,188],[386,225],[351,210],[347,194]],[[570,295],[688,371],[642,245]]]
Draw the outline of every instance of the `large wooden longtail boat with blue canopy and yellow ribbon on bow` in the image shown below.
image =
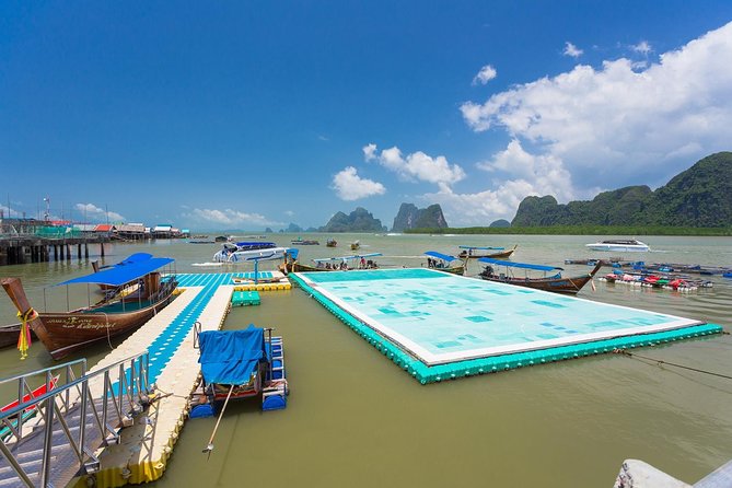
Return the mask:
[[[3,278],[0,283],[21,315],[28,317],[27,324],[50,356],[58,360],[91,344],[135,330],[164,309],[173,300],[177,281],[174,275],[162,277],[158,270],[171,263],[172,258],[153,257],[59,283],[119,287],[117,293],[94,305],[69,312],[33,310],[19,278]],[[132,286],[135,291],[129,293]]]

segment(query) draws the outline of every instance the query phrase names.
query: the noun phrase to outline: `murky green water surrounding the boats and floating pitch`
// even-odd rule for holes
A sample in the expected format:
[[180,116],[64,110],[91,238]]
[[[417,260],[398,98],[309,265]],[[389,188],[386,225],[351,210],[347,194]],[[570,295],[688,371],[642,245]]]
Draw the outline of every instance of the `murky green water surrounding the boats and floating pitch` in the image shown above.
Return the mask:
[[[291,237],[275,240],[287,244]],[[326,237],[319,236],[323,244]],[[358,239],[362,252],[381,252],[385,257],[380,263],[397,266],[418,265],[423,260],[407,256],[428,249],[455,253],[458,244],[515,243],[515,260],[561,265],[565,258],[591,257],[583,244],[595,240],[367,234],[336,239],[340,244],[335,249],[303,246],[303,258],[351,254],[347,243]],[[732,265],[729,237],[642,241],[655,251],[628,257]],[[218,248],[183,242],[116,245],[107,248],[106,263],[147,251],[175,257],[181,272],[216,271],[191,264],[210,260]],[[478,266],[472,265],[469,274],[477,274]],[[569,274],[588,270],[565,267]],[[0,275],[22,277],[32,302],[43,309],[44,286],[90,270],[89,262],[74,259],[2,267]],[[732,330],[732,280],[713,281],[713,289],[694,293],[596,282],[596,291],[586,286],[580,297],[705,319]],[[61,295],[55,303],[65,306],[65,292],[55,292]],[[70,302],[86,300],[85,290],[77,293]],[[14,313],[9,300],[0,299],[0,323],[14,322]],[[230,406],[208,461],[201,450],[216,420],[189,420],[156,485],[605,487],[612,486],[628,457],[687,483],[732,457],[730,380],[608,355],[422,386],[301,290],[263,293],[260,306],[234,309],[226,327],[248,323],[276,327],[284,337],[288,408],[264,414],[257,404]],[[88,351],[90,363],[107,349]],[[729,335],[637,352],[732,374]],[[50,363],[39,344],[23,362],[13,349],[0,351],[2,376]]]

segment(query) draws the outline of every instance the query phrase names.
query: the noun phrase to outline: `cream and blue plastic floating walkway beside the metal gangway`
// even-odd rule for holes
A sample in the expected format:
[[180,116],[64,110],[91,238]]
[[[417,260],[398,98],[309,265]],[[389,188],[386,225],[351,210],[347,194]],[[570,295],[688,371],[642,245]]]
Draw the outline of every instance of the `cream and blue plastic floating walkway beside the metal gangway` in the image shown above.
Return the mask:
[[[150,384],[158,396],[135,425],[121,430],[119,444],[103,448],[98,487],[142,484],[160,478],[190,409],[189,397],[198,383],[199,352],[194,348],[195,324],[201,330],[221,328],[235,290],[233,278],[243,272],[177,275],[178,297],[128,337],[92,371],[148,349]],[[268,283],[268,290],[271,283]],[[288,283],[289,284],[289,283]],[[80,479],[78,486],[85,486]]]

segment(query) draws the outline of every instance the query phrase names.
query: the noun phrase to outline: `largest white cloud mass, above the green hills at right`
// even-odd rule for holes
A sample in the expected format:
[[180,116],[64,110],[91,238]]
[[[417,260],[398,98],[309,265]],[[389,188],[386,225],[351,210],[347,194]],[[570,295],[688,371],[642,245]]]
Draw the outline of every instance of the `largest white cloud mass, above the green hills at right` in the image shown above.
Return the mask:
[[580,188],[660,185],[697,159],[729,149],[729,59],[732,23],[641,71],[625,58],[597,69],[580,65],[484,103],[466,102],[461,111],[473,130],[503,129],[546,164],[561,162]]

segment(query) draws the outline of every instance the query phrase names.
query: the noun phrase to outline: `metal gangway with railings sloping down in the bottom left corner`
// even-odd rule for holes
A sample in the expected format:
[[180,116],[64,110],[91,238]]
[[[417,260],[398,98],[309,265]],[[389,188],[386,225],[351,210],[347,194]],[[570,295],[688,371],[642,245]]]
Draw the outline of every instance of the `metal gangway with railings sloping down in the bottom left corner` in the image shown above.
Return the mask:
[[18,383],[18,403],[0,411],[0,487],[63,487],[98,472],[100,448],[150,402],[149,363],[144,351],[91,372],[80,359],[0,380]]

